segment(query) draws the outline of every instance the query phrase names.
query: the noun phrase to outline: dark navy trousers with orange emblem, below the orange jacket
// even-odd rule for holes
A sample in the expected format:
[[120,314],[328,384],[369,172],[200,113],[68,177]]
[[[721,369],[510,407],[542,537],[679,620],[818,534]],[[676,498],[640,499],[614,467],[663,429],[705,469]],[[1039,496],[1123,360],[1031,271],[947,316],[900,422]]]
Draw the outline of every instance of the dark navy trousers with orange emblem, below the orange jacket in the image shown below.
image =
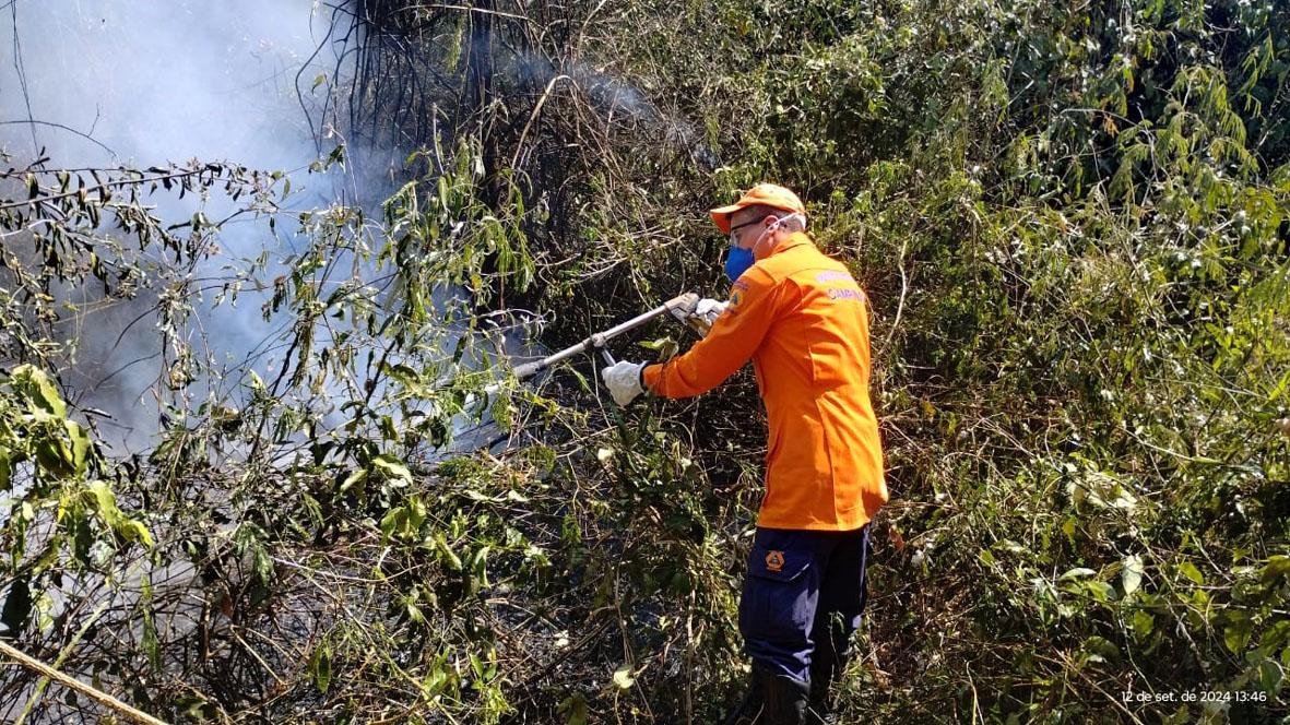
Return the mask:
[[[777,675],[831,679],[864,609],[869,526],[851,531],[757,529],[739,601],[748,655]],[[815,667],[811,667],[811,662]]]

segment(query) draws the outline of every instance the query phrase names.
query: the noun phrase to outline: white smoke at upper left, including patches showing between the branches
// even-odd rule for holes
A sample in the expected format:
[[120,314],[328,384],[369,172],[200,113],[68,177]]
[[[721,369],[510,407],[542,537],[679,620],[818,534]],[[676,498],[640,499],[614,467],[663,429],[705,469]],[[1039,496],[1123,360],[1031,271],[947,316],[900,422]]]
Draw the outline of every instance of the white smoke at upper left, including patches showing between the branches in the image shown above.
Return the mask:
[[[297,86],[302,79],[304,106],[315,103],[312,79],[335,66],[326,48],[315,53],[329,14],[313,0],[0,5],[8,26],[0,31],[0,151],[22,163],[43,150],[52,168],[200,159],[294,172],[289,204],[325,205],[332,181],[304,173],[317,147]],[[184,221],[201,204],[160,194],[150,201],[168,221]],[[231,208],[218,197],[205,206],[213,219]],[[276,257],[289,252],[279,249],[284,244],[290,239],[275,237],[262,222],[233,222],[219,235],[221,258],[203,273],[219,275],[264,249]],[[157,334],[148,323],[130,325],[150,303],[86,315],[64,330],[80,344],[66,381],[84,406],[114,417],[101,428],[104,439],[133,450],[146,448],[157,427],[156,406],[141,400],[157,377]],[[268,368],[267,356],[248,362],[271,334],[258,301],[236,308],[215,308],[209,298],[197,304],[214,356],[231,370]]]

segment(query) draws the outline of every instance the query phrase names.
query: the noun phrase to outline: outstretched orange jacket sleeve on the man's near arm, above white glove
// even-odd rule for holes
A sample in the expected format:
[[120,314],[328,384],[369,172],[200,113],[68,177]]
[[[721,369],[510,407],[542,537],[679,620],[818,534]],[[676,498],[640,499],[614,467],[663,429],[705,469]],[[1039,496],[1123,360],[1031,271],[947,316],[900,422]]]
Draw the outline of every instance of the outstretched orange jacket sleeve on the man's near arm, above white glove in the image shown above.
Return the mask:
[[730,292],[730,303],[707,337],[685,355],[644,370],[645,390],[663,397],[702,395],[733,375],[761,346],[766,330],[780,316],[791,283],[775,284],[756,267],[744,272]]

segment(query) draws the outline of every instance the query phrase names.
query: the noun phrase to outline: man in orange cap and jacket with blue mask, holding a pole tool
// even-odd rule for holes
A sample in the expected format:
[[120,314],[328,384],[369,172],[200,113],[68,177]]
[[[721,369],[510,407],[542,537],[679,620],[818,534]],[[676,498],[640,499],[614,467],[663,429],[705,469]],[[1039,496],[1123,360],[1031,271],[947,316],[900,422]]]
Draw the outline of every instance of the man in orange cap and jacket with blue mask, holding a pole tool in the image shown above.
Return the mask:
[[752,360],[770,441],[739,602],[752,686],[726,722],[824,722],[864,608],[868,522],[888,499],[866,297],[805,233],[787,188],[759,184],[711,214],[730,235],[733,281],[712,329],[666,364],[624,361],[601,377],[627,405],[646,390],[700,395]]

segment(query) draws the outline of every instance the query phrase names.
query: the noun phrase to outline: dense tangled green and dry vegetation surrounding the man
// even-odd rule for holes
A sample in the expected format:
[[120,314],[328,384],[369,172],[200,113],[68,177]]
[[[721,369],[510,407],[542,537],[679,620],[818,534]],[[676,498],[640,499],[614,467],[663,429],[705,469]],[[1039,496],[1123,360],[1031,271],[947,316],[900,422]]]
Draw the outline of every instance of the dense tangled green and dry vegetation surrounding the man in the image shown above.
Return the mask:
[[[720,295],[703,209],[769,179],[873,304],[893,502],[844,721],[1290,716],[1290,8],[472,6],[333,18],[352,65],[312,120],[348,147],[319,170],[397,150],[379,212],[288,218],[285,177],[236,164],[3,174],[26,651],[174,721],[715,720],[751,377],[619,413],[590,356],[520,384],[499,352]],[[194,273],[219,222],[147,206],[181,190],[308,244]],[[271,364],[201,341],[239,294]],[[59,387],[66,323],[114,306],[161,351],[164,430],[126,459]],[[646,332],[618,356],[690,342]],[[0,685],[6,713],[90,708]]]

